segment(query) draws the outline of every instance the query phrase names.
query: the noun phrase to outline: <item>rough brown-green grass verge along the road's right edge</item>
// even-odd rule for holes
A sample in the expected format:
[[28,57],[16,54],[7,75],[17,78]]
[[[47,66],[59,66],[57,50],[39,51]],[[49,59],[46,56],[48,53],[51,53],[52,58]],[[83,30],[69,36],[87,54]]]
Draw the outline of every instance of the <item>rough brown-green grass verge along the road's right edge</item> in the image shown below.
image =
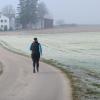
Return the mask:
[[70,66],[65,66],[52,59],[43,59],[43,62],[59,68],[70,79],[73,100],[100,100],[100,84],[97,81],[91,82],[91,78],[100,80],[100,77],[97,77],[99,75],[85,69],[81,69],[80,73],[75,74],[75,70],[72,71]]

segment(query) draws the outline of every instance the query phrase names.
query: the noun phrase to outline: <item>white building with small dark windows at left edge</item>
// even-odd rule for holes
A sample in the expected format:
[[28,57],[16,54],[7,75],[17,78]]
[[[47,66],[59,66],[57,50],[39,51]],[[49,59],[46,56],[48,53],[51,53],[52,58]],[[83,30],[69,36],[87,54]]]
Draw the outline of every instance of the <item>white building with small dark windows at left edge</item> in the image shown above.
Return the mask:
[[7,31],[9,30],[9,28],[10,28],[9,18],[0,14],[0,30]]

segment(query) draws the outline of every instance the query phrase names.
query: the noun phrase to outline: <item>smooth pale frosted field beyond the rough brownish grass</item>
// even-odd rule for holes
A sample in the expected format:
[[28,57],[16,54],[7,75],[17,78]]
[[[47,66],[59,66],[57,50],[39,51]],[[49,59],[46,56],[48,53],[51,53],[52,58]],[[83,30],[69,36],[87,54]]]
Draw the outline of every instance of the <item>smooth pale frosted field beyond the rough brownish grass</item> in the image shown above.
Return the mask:
[[0,40],[30,53],[29,48],[34,37],[38,37],[42,44],[44,58],[100,72],[100,33],[0,36]]

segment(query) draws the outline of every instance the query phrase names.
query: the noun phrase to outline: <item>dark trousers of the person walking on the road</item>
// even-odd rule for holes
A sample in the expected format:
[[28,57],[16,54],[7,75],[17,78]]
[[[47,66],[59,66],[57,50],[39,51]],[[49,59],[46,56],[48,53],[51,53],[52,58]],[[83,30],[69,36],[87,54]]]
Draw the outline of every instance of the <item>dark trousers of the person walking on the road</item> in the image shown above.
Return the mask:
[[37,69],[37,72],[39,72],[39,60],[40,54],[32,54],[33,73],[35,73],[35,69]]

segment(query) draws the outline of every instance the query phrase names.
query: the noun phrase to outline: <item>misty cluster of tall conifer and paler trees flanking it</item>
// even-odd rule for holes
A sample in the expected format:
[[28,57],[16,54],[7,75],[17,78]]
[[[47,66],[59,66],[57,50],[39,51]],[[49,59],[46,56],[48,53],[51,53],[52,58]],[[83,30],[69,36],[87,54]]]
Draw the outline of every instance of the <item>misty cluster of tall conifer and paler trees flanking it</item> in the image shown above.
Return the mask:
[[9,19],[15,17],[22,28],[27,28],[28,25],[36,24],[38,20],[49,14],[49,11],[44,2],[38,0],[19,0],[17,11],[12,5],[7,5],[2,9],[3,15]]

